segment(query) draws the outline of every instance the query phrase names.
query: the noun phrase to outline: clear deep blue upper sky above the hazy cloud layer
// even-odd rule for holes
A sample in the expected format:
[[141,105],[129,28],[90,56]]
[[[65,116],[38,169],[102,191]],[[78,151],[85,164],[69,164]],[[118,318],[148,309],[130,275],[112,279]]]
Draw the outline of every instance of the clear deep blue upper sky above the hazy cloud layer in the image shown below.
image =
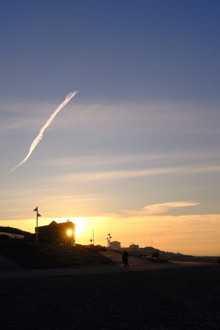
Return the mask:
[[219,6],[3,1],[1,92],[47,100],[77,85],[82,100],[218,97]]

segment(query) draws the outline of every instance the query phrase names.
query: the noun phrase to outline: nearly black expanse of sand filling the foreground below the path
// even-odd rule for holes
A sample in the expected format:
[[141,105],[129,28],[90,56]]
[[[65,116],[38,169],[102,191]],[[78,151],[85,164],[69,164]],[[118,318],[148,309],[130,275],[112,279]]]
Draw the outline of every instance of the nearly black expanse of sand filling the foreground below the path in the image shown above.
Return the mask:
[[2,278],[0,322],[0,329],[219,329],[220,266]]

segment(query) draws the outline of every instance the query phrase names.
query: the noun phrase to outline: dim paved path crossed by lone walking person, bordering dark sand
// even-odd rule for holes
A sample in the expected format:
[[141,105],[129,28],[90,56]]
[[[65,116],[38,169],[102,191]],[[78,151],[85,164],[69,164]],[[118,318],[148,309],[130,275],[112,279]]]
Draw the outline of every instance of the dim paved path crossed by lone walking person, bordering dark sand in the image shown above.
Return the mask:
[[[45,277],[45,276],[68,276],[79,274],[104,274],[104,273],[121,273],[147,270],[161,270],[172,268],[185,268],[194,266],[213,266],[215,264],[203,262],[183,262],[183,261],[169,261],[150,262],[144,258],[136,258],[129,256],[129,268],[124,269],[122,263],[122,255],[115,252],[100,252],[102,255],[111,259],[113,265],[92,266],[92,267],[76,267],[76,268],[47,268],[47,269],[23,269],[11,262],[9,259],[0,255],[0,261],[4,260],[6,267],[0,268],[1,278],[26,278],[26,277]],[[6,260],[7,259],[7,260]],[[2,264],[4,264],[2,262]],[[9,267],[9,268],[8,268]],[[10,268],[12,267],[12,268]]]

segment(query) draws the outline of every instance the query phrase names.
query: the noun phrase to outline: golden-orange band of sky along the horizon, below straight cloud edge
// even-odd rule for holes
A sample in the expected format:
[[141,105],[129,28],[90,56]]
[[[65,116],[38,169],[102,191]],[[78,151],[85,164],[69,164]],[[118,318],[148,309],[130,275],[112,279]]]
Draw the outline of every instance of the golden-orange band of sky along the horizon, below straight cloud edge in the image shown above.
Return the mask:
[[[38,218],[38,226],[48,225],[51,221],[66,222],[65,218]],[[76,243],[107,245],[110,232],[111,241],[121,242],[128,247],[130,242],[143,248],[151,246],[164,251],[180,251],[183,254],[212,254],[219,252],[220,215],[181,215],[181,216],[95,216],[69,218],[76,226]],[[155,225],[156,224],[156,225]],[[2,226],[10,226],[34,233],[36,218],[2,220]],[[159,228],[159,230],[158,230]]]

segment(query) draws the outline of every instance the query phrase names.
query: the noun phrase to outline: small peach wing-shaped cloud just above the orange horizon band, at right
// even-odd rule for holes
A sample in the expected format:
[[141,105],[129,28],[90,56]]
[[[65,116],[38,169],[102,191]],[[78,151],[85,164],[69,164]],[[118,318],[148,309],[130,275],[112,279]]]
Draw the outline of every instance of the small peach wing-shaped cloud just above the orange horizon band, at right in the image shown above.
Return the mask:
[[168,202],[161,204],[146,205],[141,211],[122,210],[123,213],[130,216],[153,215],[166,213],[172,208],[199,205],[199,202]]

